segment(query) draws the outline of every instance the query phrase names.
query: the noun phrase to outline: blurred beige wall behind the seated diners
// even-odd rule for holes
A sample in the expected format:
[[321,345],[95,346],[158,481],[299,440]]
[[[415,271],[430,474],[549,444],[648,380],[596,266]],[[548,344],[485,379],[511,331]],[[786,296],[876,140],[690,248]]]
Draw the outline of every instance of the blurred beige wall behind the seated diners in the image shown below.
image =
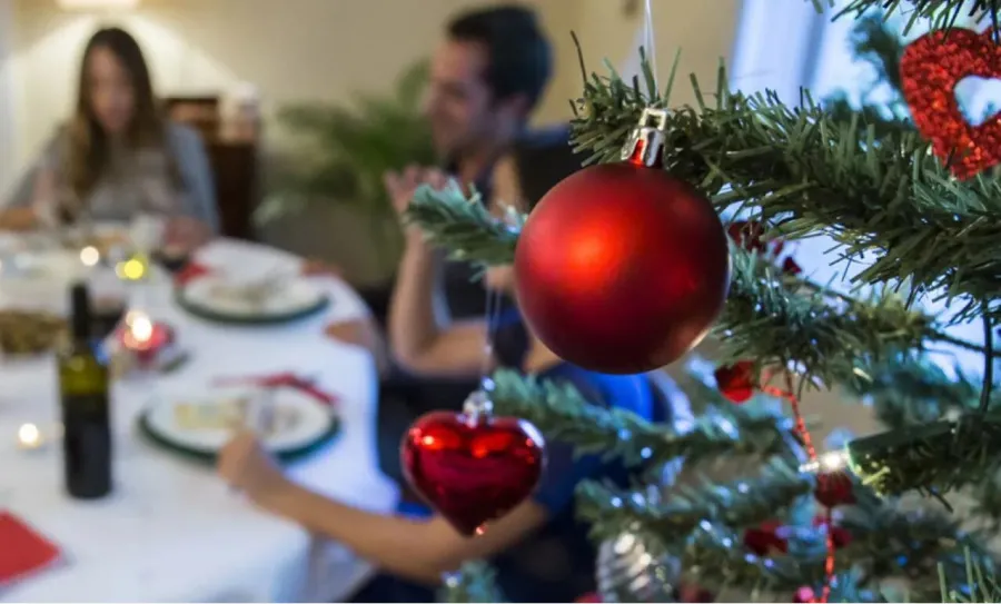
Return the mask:
[[[77,61],[87,37],[105,22],[139,38],[163,93],[259,87],[266,107],[290,100],[343,99],[378,90],[416,57],[427,55],[448,14],[484,0],[143,0],[139,10],[93,16],[63,12],[54,0],[13,3],[13,40],[3,65],[12,69],[13,160],[23,165],[65,116]],[[539,111],[567,116],[579,89],[569,31],[584,42],[589,69],[608,57],[626,61],[641,16],[626,17],[620,0],[534,0],[556,43],[557,77]],[[736,0],[654,0],[662,71],[674,48],[685,49],[683,71],[712,77],[730,53]],[[0,48],[2,48],[0,43]],[[683,87],[687,92],[687,86]],[[685,97],[678,97],[680,100]],[[7,149],[6,151],[9,151]]]

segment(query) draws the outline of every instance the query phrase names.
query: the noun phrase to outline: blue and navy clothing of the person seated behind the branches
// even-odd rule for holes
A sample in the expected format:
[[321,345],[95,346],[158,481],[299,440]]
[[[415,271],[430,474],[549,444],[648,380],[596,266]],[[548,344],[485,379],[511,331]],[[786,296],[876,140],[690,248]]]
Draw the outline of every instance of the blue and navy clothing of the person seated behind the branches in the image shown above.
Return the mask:
[[[647,419],[661,419],[653,387],[645,376],[611,376],[563,363],[538,374],[541,379],[573,384],[594,405],[628,409]],[[546,468],[533,499],[546,508],[548,522],[492,562],[497,582],[511,602],[573,602],[595,588],[597,551],[588,526],[575,517],[574,489],[584,479],[628,486],[630,472],[599,455],[577,457],[569,443],[546,440]],[[407,515],[429,515],[408,504]],[[398,577],[381,575],[359,592],[354,602],[433,602],[434,592]]]

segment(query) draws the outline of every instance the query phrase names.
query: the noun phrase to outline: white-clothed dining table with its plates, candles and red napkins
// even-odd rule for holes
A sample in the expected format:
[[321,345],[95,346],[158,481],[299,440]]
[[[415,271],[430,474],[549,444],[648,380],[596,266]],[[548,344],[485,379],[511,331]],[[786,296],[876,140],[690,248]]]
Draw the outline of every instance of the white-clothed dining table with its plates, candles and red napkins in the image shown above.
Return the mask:
[[[0,542],[21,544],[0,552],[0,602],[329,602],[364,582],[365,562],[254,508],[214,469],[221,446],[251,429],[305,486],[395,507],[377,469],[371,354],[324,333],[367,316],[344,281],[229,239],[175,267],[149,246],[44,256],[3,245],[34,268],[0,267]],[[95,308],[120,301],[96,328],[111,368],[115,488],[95,501],[62,487],[53,354],[80,280]],[[28,329],[40,341],[9,335],[28,318],[46,326]]]

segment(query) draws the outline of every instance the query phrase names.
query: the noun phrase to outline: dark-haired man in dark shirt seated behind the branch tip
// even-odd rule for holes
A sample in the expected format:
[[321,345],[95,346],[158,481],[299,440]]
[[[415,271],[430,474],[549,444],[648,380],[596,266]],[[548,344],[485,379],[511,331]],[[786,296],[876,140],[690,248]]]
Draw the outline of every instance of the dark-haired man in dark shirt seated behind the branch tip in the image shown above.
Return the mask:
[[[446,171],[489,198],[494,161],[525,130],[552,73],[552,49],[535,13],[518,6],[452,20],[432,59],[425,115]],[[410,197],[427,170],[387,175],[394,197]],[[455,318],[480,316],[485,294],[467,265],[449,263],[445,297]]]

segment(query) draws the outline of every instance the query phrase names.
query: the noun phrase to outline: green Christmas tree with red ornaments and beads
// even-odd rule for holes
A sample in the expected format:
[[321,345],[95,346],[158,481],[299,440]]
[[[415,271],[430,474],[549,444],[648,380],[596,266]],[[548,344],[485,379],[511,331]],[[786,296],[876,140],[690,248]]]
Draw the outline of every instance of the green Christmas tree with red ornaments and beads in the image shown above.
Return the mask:
[[[771,93],[745,96],[726,89],[722,68],[714,95],[693,79],[698,100],[691,107],[671,106],[673,76],[660,89],[645,60],[633,81],[614,71],[585,75],[573,128],[591,162],[622,162],[645,111],[670,109],[660,113],[666,120],[657,130],[657,165],[637,169],[663,168],[718,211],[739,205],[742,216],[726,227],[730,286],[714,325],[720,364],[693,372],[687,384],[700,407],[694,425],[651,424],[587,405],[565,386],[508,370],[493,376],[496,413],[525,418],[582,453],[654,467],[653,487],[621,492],[587,483],[577,492],[593,537],[612,545],[598,577],[605,601],[671,601],[682,582],[744,601],[1001,597],[985,546],[1001,521],[993,388],[1001,143],[965,122],[935,130],[941,103],[924,102],[945,85],[953,95],[962,77],[1001,75],[993,59],[1001,7],[853,0],[839,17],[870,19],[871,9],[900,6],[908,9],[904,29],[931,27],[902,50],[900,89],[911,118],[843,105],[832,110],[809,93],[794,107]],[[963,37],[953,28],[963,11],[981,16],[987,33]],[[533,214],[497,220],[457,189],[423,188],[408,216],[454,257],[502,265],[515,260]],[[855,277],[856,289],[813,283],[783,258],[783,242],[817,234],[840,245],[832,257],[841,261],[874,256]],[[943,319],[919,308],[936,290],[948,291],[950,320],[982,323],[982,345],[949,336]],[[982,375],[940,368],[929,350],[942,341],[978,351]],[[886,430],[843,450],[816,452],[799,412],[787,417],[763,404],[795,403],[810,388],[833,385],[871,405]],[[745,403],[752,394],[761,404]],[[664,495],[665,468],[678,461],[697,473],[707,462],[736,457],[760,467],[733,483]],[[916,495],[921,505],[911,505]],[[962,508],[953,509],[957,501]],[[983,528],[964,529],[974,518]],[[631,552],[642,555],[614,560]],[[448,578],[447,598],[499,601],[489,578],[488,567],[470,565]],[[903,580],[904,592],[888,591],[894,580]]]

